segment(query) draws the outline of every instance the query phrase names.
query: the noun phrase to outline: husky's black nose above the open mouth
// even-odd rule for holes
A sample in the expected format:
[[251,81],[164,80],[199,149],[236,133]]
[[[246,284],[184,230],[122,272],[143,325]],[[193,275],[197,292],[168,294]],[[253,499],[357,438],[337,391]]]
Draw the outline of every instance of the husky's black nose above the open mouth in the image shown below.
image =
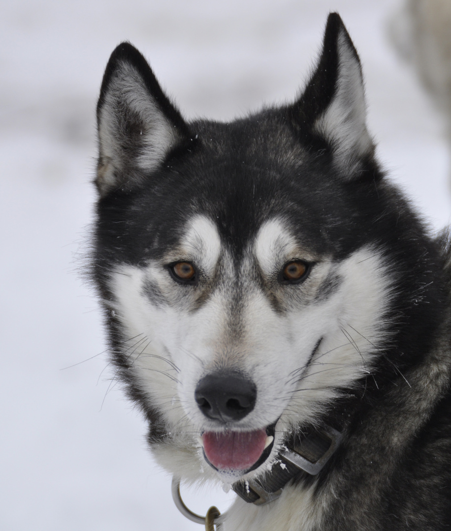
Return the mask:
[[239,421],[255,406],[257,389],[244,374],[221,372],[207,374],[199,380],[194,393],[202,413],[215,421]]

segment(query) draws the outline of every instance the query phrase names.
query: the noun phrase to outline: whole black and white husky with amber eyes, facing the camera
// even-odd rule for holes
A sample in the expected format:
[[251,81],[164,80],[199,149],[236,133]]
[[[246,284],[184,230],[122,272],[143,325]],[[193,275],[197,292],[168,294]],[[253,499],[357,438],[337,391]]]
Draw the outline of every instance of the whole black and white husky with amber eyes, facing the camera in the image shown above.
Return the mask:
[[293,104],[187,122],[126,42],[97,117],[91,276],[158,463],[232,485],[226,531],[450,529],[449,245],[339,15]]

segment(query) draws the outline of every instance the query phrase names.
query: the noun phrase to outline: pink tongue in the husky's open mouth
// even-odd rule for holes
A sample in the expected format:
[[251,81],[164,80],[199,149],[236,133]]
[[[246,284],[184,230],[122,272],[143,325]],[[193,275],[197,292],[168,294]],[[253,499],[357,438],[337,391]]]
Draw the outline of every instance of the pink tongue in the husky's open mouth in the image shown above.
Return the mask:
[[258,461],[265,449],[266,430],[252,432],[205,432],[205,455],[218,470],[246,470]]

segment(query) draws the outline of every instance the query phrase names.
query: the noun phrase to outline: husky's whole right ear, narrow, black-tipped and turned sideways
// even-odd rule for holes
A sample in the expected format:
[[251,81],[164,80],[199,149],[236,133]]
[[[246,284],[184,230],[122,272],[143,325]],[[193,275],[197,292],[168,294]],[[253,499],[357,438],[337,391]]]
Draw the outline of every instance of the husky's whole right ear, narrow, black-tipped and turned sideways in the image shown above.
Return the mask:
[[298,109],[310,131],[331,147],[343,173],[352,174],[373,155],[360,59],[337,13],[329,14],[320,61]]

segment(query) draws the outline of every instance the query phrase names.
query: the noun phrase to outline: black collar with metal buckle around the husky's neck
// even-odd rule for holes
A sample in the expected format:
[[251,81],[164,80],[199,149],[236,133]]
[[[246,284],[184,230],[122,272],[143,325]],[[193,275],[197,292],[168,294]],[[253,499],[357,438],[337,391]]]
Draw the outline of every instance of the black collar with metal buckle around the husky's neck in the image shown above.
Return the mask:
[[303,430],[279,453],[271,470],[261,478],[233,483],[232,489],[248,503],[264,505],[277,500],[283,487],[306,472],[315,476],[338,448],[343,431],[330,425]]

